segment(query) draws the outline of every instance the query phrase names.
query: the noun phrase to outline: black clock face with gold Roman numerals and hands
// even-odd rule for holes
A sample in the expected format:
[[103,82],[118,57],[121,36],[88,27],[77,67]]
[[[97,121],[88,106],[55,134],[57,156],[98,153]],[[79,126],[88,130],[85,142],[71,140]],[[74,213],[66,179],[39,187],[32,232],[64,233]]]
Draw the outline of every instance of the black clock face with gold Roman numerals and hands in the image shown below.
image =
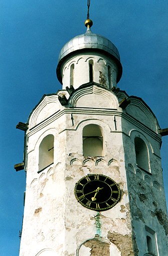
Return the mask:
[[120,188],[111,178],[102,174],[88,174],[75,185],[75,197],[84,207],[106,211],[120,199]]

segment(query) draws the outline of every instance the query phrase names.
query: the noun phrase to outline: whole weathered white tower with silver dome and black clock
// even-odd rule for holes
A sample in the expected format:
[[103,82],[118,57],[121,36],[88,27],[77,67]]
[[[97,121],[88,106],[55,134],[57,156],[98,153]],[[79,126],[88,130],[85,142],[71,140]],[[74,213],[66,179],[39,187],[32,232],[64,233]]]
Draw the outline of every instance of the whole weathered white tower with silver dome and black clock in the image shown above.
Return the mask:
[[44,95],[25,130],[20,256],[165,256],[161,135],[151,109],[116,84],[116,47],[85,34],[62,48],[63,88]]

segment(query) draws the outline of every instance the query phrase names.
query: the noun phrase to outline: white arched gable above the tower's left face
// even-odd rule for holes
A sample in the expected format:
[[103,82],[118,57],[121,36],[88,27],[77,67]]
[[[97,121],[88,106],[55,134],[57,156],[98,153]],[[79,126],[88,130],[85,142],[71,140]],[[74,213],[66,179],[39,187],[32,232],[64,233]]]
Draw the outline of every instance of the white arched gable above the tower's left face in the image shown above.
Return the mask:
[[60,110],[58,95],[45,95],[29,116],[29,129]]

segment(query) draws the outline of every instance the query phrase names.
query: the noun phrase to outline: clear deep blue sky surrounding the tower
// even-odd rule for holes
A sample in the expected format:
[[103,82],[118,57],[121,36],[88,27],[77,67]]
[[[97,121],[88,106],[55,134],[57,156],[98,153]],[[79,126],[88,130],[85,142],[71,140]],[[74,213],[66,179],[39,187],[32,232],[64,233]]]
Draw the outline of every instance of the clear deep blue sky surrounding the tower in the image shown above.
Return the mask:
[[[1,256],[19,255],[22,226],[24,132],[16,130],[43,94],[61,89],[56,78],[59,51],[86,30],[87,0],[1,0]],[[119,50],[123,75],[118,87],[141,97],[168,127],[168,2],[167,0],[91,0],[92,31]],[[168,201],[168,136],[161,157]]]

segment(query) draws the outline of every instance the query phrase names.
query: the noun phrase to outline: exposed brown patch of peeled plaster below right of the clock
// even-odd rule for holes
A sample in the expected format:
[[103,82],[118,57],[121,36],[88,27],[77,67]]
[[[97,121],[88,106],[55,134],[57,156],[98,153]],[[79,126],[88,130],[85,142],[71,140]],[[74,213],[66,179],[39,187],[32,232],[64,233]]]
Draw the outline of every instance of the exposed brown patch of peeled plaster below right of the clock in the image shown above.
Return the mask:
[[107,238],[110,242],[114,243],[117,248],[121,251],[121,256],[135,256],[133,246],[132,246],[132,237],[131,235],[122,235],[119,233],[108,232]]

